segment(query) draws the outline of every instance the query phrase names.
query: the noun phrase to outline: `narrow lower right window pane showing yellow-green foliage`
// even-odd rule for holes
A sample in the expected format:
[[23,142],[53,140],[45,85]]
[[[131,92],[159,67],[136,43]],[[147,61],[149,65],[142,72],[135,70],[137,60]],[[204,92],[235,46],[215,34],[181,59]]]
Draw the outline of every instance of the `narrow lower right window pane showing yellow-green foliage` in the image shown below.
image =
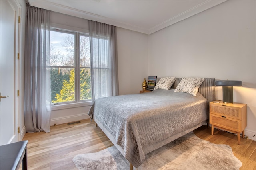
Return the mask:
[[92,99],[91,73],[89,68],[80,69],[80,100]]

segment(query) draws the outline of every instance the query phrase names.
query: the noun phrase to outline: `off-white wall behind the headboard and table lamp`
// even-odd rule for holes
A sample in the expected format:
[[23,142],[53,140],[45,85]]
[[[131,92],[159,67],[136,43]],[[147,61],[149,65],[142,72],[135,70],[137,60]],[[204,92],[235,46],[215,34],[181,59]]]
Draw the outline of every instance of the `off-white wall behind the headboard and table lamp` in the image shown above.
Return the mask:
[[241,80],[234,102],[247,104],[245,134],[256,134],[256,1],[227,1],[149,35],[148,75]]

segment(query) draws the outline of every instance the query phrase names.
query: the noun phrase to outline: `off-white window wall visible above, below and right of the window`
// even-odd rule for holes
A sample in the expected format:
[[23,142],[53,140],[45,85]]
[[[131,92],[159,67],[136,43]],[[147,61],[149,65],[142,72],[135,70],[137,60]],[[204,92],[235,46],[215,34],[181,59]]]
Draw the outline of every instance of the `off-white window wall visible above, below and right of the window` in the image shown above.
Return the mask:
[[[50,13],[52,26],[62,29],[88,31],[88,20],[57,12]],[[148,36],[143,33],[117,28],[118,41],[118,78],[120,94],[139,93],[142,82],[148,74],[147,48]],[[59,106],[57,106],[59,107]],[[90,118],[87,113],[90,104],[59,109],[52,107],[51,125]]]

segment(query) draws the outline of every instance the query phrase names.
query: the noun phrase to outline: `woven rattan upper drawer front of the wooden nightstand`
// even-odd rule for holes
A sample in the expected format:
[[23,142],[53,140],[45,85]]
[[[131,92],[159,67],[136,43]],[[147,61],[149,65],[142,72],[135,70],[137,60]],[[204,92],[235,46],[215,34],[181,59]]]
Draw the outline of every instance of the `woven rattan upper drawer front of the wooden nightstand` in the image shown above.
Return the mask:
[[220,113],[221,115],[232,117],[234,119],[241,119],[240,108],[224,107],[212,105],[212,112]]

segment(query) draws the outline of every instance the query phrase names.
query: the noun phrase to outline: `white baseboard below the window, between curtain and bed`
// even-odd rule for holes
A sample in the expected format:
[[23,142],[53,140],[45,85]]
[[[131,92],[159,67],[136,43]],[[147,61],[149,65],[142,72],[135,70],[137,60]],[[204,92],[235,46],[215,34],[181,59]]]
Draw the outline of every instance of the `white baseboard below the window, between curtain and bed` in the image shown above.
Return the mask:
[[87,114],[88,113],[82,113],[82,114],[78,114],[78,115],[54,118],[54,119],[51,119],[50,125],[53,126],[55,123],[56,123],[56,125],[59,125],[59,124],[68,123],[68,122],[72,122],[72,121],[89,119],[90,117]]

